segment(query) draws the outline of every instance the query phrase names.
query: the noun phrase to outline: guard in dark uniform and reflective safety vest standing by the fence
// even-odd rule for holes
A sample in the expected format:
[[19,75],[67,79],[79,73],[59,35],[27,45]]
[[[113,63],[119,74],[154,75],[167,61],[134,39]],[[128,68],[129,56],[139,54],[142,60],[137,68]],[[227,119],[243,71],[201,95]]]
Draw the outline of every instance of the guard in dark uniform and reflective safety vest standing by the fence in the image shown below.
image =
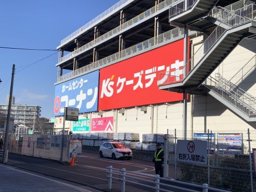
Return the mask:
[[163,177],[163,158],[164,153],[162,150],[162,145],[160,143],[157,143],[157,150],[154,154],[152,163],[155,163],[156,175],[160,175],[160,177]]

